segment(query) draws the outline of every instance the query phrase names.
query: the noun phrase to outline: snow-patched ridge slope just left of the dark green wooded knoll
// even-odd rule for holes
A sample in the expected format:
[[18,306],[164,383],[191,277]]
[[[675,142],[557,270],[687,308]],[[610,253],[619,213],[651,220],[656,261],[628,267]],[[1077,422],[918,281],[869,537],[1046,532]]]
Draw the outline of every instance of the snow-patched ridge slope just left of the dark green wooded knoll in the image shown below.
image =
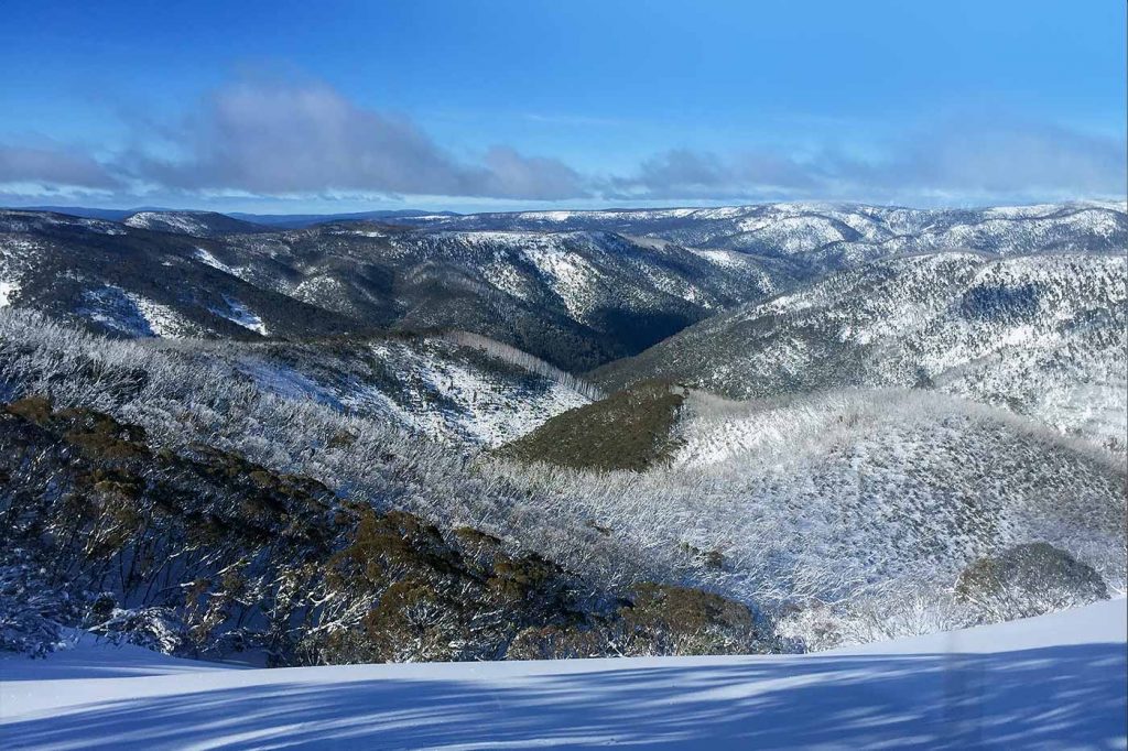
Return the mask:
[[[462,338],[470,338],[462,335]],[[169,343],[162,348],[263,391],[314,399],[447,443],[512,441],[594,394],[535,357],[476,337],[388,336],[309,343]]]

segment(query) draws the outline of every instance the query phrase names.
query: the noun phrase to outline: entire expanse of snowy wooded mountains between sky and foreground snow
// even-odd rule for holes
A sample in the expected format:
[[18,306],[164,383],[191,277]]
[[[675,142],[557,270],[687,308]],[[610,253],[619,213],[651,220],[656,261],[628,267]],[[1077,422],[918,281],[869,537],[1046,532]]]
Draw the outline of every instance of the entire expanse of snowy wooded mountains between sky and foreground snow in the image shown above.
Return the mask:
[[59,622],[668,654],[984,622],[957,580],[1023,546],[1122,591],[1123,205],[306,219],[0,211],[3,571],[116,598]]

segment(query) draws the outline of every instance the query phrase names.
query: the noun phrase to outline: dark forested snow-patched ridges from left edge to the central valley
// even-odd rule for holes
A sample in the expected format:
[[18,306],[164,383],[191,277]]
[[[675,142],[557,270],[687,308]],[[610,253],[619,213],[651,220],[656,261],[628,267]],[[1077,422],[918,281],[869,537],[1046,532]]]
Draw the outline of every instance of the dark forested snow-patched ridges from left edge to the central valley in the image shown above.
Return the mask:
[[793,275],[783,262],[608,232],[346,223],[203,238],[42,212],[0,214],[0,259],[9,304],[116,335],[459,329],[569,370],[640,352]]

